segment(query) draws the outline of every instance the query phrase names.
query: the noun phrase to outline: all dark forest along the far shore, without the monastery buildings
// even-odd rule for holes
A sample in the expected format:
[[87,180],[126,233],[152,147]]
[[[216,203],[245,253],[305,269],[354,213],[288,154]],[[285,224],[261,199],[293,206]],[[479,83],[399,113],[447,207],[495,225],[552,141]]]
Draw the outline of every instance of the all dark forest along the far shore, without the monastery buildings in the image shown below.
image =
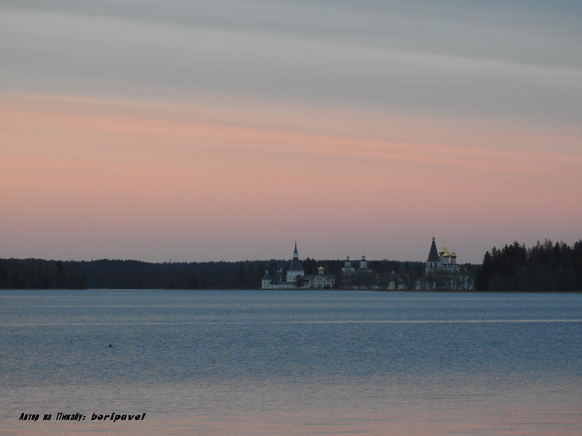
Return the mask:
[[[336,276],[342,287],[341,268],[345,260],[301,260],[306,274]],[[354,265],[357,262],[354,261]],[[139,260],[62,261],[44,259],[0,259],[2,289],[260,289],[265,269],[275,279],[289,260],[245,260],[244,262],[164,262]],[[424,262],[368,261],[374,277],[395,276],[414,289],[414,281],[424,275]],[[550,240],[531,248],[513,242],[486,252],[480,266],[464,264],[475,289],[480,291],[572,292],[582,291],[582,240],[572,246]],[[365,278],[365,277],[364,277]],[[370,284],[375,283],[372,280]],[[360,288],[367,288],[362,283]]]

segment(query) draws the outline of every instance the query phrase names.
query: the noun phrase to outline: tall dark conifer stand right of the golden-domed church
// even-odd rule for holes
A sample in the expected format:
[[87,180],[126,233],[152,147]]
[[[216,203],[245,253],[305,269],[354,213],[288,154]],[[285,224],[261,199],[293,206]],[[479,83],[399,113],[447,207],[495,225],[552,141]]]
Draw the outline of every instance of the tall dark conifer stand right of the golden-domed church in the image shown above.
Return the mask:
[[481,291],[582,291],[582,240],[538,241],[531,248],[517,241],[486,252],[477,271],[475,288]]

